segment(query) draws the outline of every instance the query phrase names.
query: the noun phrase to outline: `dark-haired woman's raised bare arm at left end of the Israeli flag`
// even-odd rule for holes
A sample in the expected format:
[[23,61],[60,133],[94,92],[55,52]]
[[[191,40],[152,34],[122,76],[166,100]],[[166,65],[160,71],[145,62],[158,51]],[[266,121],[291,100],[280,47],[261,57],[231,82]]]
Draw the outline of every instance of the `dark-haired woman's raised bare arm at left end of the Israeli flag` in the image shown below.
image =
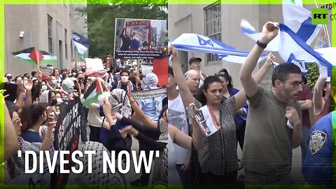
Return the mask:
[[195,102],[195,98],[193,94],[191,94],[189,87],[186,83],[186,79],[184,78],[183,71],[181,69],[181,64],[179,63],[179,59],[177,57],[177,50],[171,45],[168,50],[169,54],[172,57],[173,63],[173,71],[174,71],[174,78],[176,80],[177,85],[179,86],[181,98],[184,107],[188,107],[189,104]]

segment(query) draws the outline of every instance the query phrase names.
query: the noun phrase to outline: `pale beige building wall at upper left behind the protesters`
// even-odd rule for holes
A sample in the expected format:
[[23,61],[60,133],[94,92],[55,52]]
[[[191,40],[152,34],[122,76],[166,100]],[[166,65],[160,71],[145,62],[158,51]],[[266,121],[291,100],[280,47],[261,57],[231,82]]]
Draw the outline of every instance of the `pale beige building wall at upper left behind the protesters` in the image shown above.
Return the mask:
[[[6,5],[5,73],[10,72],[13,76],[18,76],[36,70],[36,66],[13,57],[12,52],[34,46],[48,52],[48,15],[52,17],[52,54],[57,56],[57,65],[54,67],[70,66],[73,58],[73,55],[71,56],[71,30],[79,30],[81,34],[86,33],[83,23],[73,24],[76,21],[71,17],[71,11],[72,8],[69,5]],[[64,29],[67,30],[66,38]],[[19,38],[20,31],[25,31],[24,38]],[[59,41],[62,41],[62,52],[59,52]],[[67,49],[65,49],[65,42]],[[62,58],[59,55],[62,55]],[[62,62],[60,62],[61,59]]]

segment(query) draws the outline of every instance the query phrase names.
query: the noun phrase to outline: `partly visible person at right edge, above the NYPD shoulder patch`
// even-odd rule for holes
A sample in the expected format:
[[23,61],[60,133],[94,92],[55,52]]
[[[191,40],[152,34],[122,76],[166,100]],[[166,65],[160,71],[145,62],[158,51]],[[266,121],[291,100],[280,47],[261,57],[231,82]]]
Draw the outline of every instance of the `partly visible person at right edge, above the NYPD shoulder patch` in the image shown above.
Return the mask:
[[334,99],[331,97],[330,77],[318,78],[313,94],[314,114],[316,121],[332,111],[332,101],[334,101]]

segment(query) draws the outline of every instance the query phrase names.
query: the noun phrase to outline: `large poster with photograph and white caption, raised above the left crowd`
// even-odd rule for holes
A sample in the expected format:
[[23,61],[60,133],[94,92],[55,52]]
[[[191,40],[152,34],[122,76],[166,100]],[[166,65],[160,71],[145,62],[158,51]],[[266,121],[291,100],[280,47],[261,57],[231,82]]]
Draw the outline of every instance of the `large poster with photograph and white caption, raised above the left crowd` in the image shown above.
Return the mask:
[[162,59],[166,20],[116,18],[116,59]]

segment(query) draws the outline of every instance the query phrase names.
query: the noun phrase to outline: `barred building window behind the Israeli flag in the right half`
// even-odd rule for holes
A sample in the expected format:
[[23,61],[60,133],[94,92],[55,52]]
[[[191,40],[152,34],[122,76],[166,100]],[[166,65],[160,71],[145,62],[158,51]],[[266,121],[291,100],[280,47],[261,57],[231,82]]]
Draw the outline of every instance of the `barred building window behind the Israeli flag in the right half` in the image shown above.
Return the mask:
[[[222,41],[221,4],[212,4],[204,8],[205,34]],[[215,55],[207,54],[207,62],[220,60]]]

